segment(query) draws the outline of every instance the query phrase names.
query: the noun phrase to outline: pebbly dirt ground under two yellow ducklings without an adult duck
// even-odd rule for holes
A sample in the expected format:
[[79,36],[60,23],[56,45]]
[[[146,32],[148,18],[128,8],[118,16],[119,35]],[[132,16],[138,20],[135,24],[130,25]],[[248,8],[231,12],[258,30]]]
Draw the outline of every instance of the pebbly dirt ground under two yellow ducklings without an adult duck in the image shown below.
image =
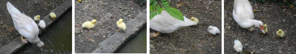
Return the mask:
[[[75,26],[96,19],[98,23],[89,32],[86,28],[75,27],[75,53],[92,53],[100,43],[113,35],[118,27],[116,22],[122,18],[127,23],[146,9],[134,0],[75,0]],[[88,41],[94,39],[95,42]]]

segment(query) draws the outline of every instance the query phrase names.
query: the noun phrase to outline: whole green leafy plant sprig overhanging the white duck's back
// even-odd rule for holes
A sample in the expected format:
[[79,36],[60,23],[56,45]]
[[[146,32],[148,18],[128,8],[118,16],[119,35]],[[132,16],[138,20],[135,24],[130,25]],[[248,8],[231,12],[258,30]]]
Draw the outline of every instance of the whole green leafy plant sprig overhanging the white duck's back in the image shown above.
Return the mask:
[[183,14],[176,8],[170,7],[170,2],[167,0],[150,0],[150,20],[156,16],[160,15],[161,11],[165,10],[168,12],[172,17],[184,21]]

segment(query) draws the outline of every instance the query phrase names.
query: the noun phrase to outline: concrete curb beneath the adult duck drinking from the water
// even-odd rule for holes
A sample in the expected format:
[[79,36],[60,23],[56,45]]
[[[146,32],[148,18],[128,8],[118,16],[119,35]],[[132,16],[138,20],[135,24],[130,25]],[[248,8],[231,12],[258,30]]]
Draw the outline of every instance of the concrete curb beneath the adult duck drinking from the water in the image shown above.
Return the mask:
[[[48,15],[46,15],[42,19],[42,20],[44,20],[46,22],[46,27],[45,28],[49,28],[52,25],[52,23],[57,22],[60,18],[62,18],[61,15],[65,15],[67,13],[67,11],[69,11],[70,9],[72,9],[72,0],[67,0],[64,3],[62,3],[59,7],[53,9],[52,11],[50,11],[50,12],[54,12],[57,15],[57,17],[54,20],[50,20],[50,16],[49,16],[50,12],[49,12]],[[38,22],[36,22],[36,23],[38,25]],[[42,33],[44,33],[44,31],[45,30],[39,29],[39,35],[38,35],[39,38],[42,35]],[[28,44],[23,44],[20,39],[21,39],[21,36],[17,37],[16,39],[14,39],[11,42],[9,42],[8,45],[5,45],[5,46],[1,47],[0,48],[0,53],[1,54],[15,54],[19,50],[22,50],[23,48],[27,47]]]

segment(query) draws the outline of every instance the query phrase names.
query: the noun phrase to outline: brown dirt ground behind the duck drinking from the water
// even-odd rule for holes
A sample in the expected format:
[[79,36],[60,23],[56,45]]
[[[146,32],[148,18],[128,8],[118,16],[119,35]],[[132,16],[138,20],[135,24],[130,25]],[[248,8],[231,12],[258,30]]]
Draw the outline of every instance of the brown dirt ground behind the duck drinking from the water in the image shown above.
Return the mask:
[[[13,39],[20,36],[17,30],[14,27],[12,18],[7,11],[6,3],[9,1],[13,6],[15,6],[20,12],[24,12],[27,16],[32,19],[36,15],[40,15],[40,19],[44,19],[46,15],[50,13],[52,9],[58,7],[65,0],[53,1],[53,0],[34,0],[34,1],[25,1],[25,0],[1,0],[0,1],[0,47],[7,45]],[[44,9],[46,8],[46,9]],[[49,18],[48,18],[49,19]]]

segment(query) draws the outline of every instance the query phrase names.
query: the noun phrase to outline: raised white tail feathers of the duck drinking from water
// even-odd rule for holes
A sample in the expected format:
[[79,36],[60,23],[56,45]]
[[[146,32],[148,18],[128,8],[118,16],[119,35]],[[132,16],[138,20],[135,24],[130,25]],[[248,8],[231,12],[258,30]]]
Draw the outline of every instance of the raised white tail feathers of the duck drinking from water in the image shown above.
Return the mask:
[[9,14],[21,14],[21,12],[17,8],[15,8],[10,2],[7,2],[6,6]]

